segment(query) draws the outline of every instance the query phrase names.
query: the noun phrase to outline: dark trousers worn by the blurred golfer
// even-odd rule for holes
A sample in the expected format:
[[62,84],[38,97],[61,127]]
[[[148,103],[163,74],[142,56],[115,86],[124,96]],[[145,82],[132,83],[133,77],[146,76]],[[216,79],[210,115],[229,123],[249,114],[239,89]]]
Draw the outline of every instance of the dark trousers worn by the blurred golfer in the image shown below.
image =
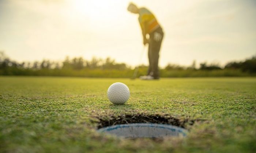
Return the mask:
[[[161,34],[162,38],[160,40],[154,39],[154,33],[158,32]],[[159,51],[161,48],[162,40],[163,40],[163,31],[162,28],[157,28],[154,32],[150,33],[150,40],[148,43],[148,73],[147,75],[153,76],[155,79],[159,78],[159,70],[158,70],[158,59],[159,59]]]

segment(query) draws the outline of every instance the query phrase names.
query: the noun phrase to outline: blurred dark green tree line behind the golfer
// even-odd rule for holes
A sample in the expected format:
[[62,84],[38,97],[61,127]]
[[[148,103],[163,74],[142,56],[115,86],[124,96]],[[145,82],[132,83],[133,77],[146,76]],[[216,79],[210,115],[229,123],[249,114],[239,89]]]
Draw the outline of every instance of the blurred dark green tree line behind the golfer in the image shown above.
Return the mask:
[[[8,58],[4,52],[0,52],[0,75],[53,75],[53,76],[88,76],[88,77],[125,77],[132,74],[134,68],[118,63],[114,59],[92,58],[91,60],[78,58],[65,58],[62,62],[42,60],[35,62],[16,62]],[[147,67],[140,65],[140,72],[146,72]],[[100,72],[102,71],[102,72]],[[196,67],[196,61],[191,66],[180,66],[178,64],[167,64],[160,70],[164,77],[189,77],[190,73],[195,76],[255,76],[256,56],[240,62],[229,62],[224,67],[219,64],[200,63]],[[225,73],[223,73],[225,72]],[[95,74],[93,74],[95,73]],[[180,75],[180,74],[184,75]],[[218,74],[217,74],[218,73]],[[90,75],[89,75],[90,74]],[[124,75],[125,74],[125,75]],[[169,74],[169,75],[168,75]],[[174,76],[174,74],[177,74]],[[204,74],[204,75],[203,75]]]

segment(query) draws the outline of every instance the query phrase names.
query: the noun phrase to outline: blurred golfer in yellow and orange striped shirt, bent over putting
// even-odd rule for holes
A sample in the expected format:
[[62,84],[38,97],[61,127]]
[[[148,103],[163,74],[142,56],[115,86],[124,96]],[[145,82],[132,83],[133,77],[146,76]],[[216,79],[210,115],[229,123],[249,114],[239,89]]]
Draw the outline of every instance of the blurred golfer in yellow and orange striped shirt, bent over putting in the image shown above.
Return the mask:
[[[146,76],[141,76],[140,78],[146,80],[159,79],[158,59],[163,40],[163,30],[155,16],[148,9],[138,8],[133,3],[130,3],[127,9],[132,13],[139,14],[143,44],[146,45],[148,43],[148,72]],[[149,39],[147,39],[147,35],[149,35]]]

